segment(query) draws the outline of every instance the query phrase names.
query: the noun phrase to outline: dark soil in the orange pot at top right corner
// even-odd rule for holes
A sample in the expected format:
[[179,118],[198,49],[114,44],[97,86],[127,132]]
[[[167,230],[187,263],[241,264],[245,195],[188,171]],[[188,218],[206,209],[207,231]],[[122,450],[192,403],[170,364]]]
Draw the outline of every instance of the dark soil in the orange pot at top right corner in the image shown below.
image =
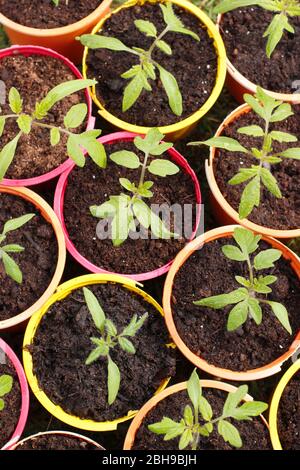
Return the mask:
[[267,90],[295,93],[300,70],[300,18],[289,17],[295,34],[285,31],[268,59],[263,34],[273,17],[273,12],[263,8],[238,8],[224,15],[221,35],[229,60],[248,80]]

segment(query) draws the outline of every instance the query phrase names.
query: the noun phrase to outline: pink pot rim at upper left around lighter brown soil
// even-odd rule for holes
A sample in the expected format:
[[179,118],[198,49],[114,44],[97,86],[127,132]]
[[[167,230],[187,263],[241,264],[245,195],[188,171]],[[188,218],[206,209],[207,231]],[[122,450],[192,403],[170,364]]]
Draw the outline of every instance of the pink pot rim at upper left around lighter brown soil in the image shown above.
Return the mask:
[[[0,13],[0,23],[1,23],[1,13]],[[24,55],[25,57],[28,57],[34,54],[42,55],[42,56],[49,56],[49,57],[53,57],[54,59],[61,60],[71,70],[71,72],[74,74],[76,78],[78,79],[83,78],[79,70],[75,67],[75,65],[72,62],[70,62],[69,59],[67,59],[66,57],[58,54],[57,52],[51,49],[46,49],[44,47],[12,46],[7,49],[1,49],[0,61],[4,57],[10,57],[10,56],[15,56],[15,55]],[[85,90],[85,98],[86,98],[86,104],[88,106],[88,114],[86,118],[87,119],[86,130],[91,130],[91,129],[94,129],[95,118],[92,116],[92,100],[89,95],[88,89]],[[49,147],[50,147],[50,141],[49,141]],[[61,173],[67,170],[71,166],[71,164],[72,164],[72,160],[68,158],[64,163],[59,165],[57,168],[41,176],[36,176],[34,178],[26,178],[26,179],[5,179],[4,178],[4,180],[1,181],[1,184],[7,185],[7,186],[44,187],[48,182],[52,181],[54,178],[57,178]]]

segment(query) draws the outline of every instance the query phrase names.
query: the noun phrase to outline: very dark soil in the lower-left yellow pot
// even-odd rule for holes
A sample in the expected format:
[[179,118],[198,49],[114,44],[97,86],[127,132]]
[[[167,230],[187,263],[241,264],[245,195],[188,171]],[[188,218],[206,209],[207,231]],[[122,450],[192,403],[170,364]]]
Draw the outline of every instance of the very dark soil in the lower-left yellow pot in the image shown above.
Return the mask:
[[100,301],[106,317],[118,332],[134,314],[149,317],[131,338],[136,353],[119,347],[111,358],[121,373],[120,391],[115,402],[107,403],[107,359],[91,365],[85,361],[93,349],[90,337],[99,337],[82,289],[53,305],[43,317],[33,344],[29,347],[39,386],[64,411],[83,419],[113,420],[139,409],[157,390],[162,380],[175,374],[175,350],[161,315],[139,295],[115,284],[89,286]]

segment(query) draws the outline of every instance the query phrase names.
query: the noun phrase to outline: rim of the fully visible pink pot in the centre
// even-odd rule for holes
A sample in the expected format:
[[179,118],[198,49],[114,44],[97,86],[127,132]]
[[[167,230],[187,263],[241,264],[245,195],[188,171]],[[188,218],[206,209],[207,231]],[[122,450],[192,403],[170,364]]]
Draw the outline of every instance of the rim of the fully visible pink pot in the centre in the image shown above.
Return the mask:
[[[113,134],[109,134],[104,137],[101,137],[99,141],[102,142],[102,144],[113,144],[120,140],[132,141],[134,137],[136,137],[136,135],[138,134],[132,134],[131,132],[115,132]],[[194,227],[192,236],[190,238],[192,240],[195,237],[195,234],[197,233],[199,223],[200,223],[201,192],[200,192],[199,182],[198,182],[195,172],[192,170],[192,168],[190,167],[186,159],[179,152],[177,152],[177,150],[175,150],[174,148],[171,148],[170,150],[168,150],[168,154],[170,155],[172,160],[175,163],[177,163],[177,165],[179,165],[180,168],[185,173],[190,175],[191,180],[194,185],[195,199],[196,199],[196,203],[198,206],[197,206],[195,227]],[[110,273],[109,271],[99,268],[98,266],[94,265],[93,263],[88,261],[86,258],[84,258],[76,249],[72,241],[70,240],[70,237],[69,237],[66,225],[65,225],[63,209],[64,209],[65,191],[66,191],[66,187],[68,184],[68,176],[71,173],[71,171],[74,169],[74,167],[75,167],[75,164],[72,163],[70,167],[60,176],[58,184],[56,186],[55,197],[54,197],[54,211],[57,214],[62,224],[62,228],[63,228],[65,238],[66,238],[67,250],[73,256],[73,258],[75,258],[76,261],[88,271],[92,273]],[[155,269],[154,271],[150,271],[150,272],[146,272],[142,274],[121,274],[121,275],[134,279],[135,281],[147,281],[149,279],[153,279],[153,278],[162,276],[163,274],[166,274],[169,271],[172,262],[173,260],[169,261],[169,263],[162,266],[161,268]],[[114,274],[118,274],[118,273],[114,273]]]

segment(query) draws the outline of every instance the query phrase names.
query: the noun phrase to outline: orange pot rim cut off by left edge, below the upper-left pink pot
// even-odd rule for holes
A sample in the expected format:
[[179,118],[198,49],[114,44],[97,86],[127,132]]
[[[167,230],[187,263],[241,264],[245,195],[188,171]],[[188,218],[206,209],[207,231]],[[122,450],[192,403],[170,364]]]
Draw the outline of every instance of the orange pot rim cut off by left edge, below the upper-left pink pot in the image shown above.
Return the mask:
[[38,194],[34,193],[33,191],[27,188],[12,188],[0,185],[0,197],[1,193],[18,196],[33,204],[37,208],[37,210],[42,214],[44,219],[52,225],[52,228],[56,235],[58,250],[56,270],[53,274],[52,281],[50,282],[49,286],[45,289],[43,295],[24,312],[20,312],[19,315],[9,318],[8,320],[0,321],[0,331],[8,331],[14,330],[16,328],[21,329],[24,324],[28,321],[28,319],[44,305],[44,303],[49,299],[49,297],[51,297],[58,284],[60,283],[61,277],[64,272],[66,262],[66,244],[64,234],[57,216],[55,215],[53,209],[49,206],[49,204],[44,201],[44,199],[42,199]]

